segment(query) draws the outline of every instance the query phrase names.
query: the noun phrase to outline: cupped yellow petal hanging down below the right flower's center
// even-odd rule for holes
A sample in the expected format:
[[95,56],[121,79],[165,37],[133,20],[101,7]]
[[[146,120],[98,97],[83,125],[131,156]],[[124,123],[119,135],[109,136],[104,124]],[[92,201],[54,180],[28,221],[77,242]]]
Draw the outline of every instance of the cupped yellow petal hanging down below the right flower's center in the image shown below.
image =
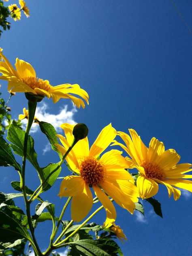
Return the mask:
[[145,176],[139,176],[137,178],[137,188],[141,198],[150,198],[157,194],[158,183],[153,179],[149,179]]

